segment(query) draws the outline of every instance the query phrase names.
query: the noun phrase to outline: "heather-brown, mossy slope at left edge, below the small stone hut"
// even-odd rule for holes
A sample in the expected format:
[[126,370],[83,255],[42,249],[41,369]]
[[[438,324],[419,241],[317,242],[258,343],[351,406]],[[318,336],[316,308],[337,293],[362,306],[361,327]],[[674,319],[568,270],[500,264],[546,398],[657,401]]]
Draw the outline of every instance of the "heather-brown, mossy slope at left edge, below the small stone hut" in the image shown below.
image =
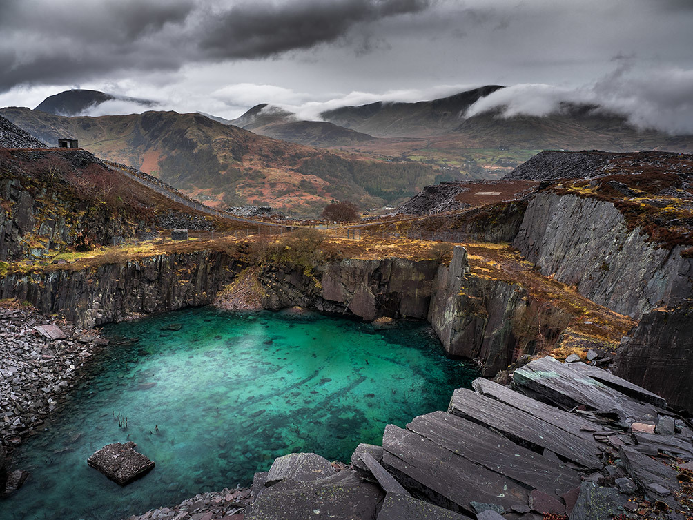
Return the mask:
[[157,228],[249,227],[174,202],[85,150],[0,149],[0,202],[0,261],[90,250]]

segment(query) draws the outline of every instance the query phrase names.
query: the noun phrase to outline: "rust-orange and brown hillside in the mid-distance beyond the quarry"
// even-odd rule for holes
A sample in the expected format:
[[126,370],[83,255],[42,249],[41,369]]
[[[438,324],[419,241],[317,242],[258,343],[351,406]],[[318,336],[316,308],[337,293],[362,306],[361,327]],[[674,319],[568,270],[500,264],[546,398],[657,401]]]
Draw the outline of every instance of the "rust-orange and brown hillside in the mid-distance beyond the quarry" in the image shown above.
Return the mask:
[[202,114],[68,118],[17,107],[0,113],[41,139],[75,137],[99,157],[139,168],[219,207],[252,202],[313,215],[332,199],[374,207],[411,196],[436,176],[429,166],[315,150]]

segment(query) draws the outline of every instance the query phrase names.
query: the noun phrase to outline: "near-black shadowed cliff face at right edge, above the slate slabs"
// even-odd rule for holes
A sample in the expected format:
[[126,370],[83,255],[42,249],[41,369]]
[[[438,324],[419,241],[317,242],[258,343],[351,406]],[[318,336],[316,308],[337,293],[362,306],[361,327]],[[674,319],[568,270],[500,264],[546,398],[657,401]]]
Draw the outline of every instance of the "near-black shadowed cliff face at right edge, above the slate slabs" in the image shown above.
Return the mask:
[[623,338],[614,373],[693,413],[693,311],[656,310]]

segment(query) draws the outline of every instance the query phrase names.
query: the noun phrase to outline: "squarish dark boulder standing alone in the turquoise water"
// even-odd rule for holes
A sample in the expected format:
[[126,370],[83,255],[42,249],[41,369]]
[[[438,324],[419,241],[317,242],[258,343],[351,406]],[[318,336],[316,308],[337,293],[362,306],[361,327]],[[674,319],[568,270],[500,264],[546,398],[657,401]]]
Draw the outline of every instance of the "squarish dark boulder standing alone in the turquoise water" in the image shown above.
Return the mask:
[[154,462],[134,451],[135,448],[137,444],[134,442],[108,444],[89,457],[87,464],[124,486],[154,467]]

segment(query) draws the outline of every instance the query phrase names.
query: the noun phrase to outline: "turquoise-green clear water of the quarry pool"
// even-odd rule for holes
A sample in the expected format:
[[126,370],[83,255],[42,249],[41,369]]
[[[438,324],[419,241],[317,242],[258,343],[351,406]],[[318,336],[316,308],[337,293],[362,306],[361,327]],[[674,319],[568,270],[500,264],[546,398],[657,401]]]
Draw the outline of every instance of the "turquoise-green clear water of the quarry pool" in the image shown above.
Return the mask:
[[[290,452],[348,462],[359,442],[382,442],[385,424],[445,409],[474,376],[416,322],[374,331],[312,313],[207,308],[106,333],[115,339],[93,379],[18,453],[32,475],[0,501],[0,519],[128,517],[249,485]],[[150,474],[120,487],[87,466],[97,449],[128,440],[156,462]]]

